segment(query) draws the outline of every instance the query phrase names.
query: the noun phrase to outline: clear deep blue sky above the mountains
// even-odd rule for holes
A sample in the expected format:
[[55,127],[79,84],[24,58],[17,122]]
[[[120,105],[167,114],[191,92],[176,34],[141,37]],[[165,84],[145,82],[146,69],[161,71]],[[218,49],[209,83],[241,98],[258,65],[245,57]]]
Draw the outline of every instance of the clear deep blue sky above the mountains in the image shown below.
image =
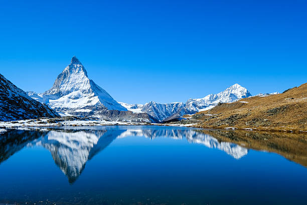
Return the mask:
[[116,100],[307,82],[306,1],[2,1],[0,73],[43,92],[76,55]]

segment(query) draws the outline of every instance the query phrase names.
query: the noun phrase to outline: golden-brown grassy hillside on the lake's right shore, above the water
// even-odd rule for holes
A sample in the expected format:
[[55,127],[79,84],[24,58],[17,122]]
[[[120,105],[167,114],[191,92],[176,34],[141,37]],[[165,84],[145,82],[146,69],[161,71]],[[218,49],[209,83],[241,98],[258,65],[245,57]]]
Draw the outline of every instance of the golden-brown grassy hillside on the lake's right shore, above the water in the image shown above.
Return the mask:
[[307,131],[307,83],[281,94],[218,105],[195,114],[192,120],[197,120],[203,128]]

